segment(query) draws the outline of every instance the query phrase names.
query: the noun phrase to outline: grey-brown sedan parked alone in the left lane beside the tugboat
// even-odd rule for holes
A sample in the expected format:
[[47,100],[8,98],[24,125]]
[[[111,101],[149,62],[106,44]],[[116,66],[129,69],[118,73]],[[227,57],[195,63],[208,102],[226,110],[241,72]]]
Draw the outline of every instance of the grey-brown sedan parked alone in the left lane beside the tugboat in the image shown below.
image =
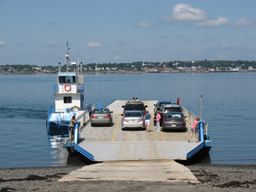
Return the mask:
[[94,108],[91,115],[91,126],[95,124],[108,124],[111,126],[113,122],[111,113],[113,111],[108,108]]

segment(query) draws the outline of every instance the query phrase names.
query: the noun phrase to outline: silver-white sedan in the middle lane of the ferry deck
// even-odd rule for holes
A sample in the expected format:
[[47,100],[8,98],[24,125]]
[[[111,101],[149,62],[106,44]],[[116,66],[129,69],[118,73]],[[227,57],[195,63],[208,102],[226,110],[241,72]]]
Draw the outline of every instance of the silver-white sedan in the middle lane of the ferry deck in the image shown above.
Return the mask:
[[122,118],[122,130],[124,128],[145,129],[143,114],[140,110],[126,110]]

